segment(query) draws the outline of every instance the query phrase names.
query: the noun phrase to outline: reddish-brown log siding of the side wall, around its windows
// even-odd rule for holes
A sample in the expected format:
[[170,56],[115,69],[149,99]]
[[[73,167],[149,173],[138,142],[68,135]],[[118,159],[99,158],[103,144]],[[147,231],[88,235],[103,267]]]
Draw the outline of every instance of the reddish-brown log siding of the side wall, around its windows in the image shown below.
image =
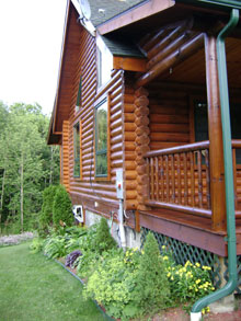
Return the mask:
[[[95,38],[81,32],[80,54],[74,68],[72,100],[69,114],[69,191],[73,204],[83,204],[87,209],[108,216],[118,207],[116,198],[116,169],[123,168],[123,71],[114,71],[110,82],[96,87]],[[82,77],[81,107],[76,112],[77,93]],[[110,180],[97,181],[94,176],[94,105],[108,98],[110,102]],[[73,177],[73,125],[81,125],[81,175]]]

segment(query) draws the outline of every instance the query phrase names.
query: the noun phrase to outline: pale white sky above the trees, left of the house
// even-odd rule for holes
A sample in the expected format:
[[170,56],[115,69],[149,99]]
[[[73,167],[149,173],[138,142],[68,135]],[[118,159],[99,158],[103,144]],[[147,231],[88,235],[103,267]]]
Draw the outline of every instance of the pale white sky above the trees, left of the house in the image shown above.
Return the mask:
[[50,115],[67,0],[0,0],[0,101]]

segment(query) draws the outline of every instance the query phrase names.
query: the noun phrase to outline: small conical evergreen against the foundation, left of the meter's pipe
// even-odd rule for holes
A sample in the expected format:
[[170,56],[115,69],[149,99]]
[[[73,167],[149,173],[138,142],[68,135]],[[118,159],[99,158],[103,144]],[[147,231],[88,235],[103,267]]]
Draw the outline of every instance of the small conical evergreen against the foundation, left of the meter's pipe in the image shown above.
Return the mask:
[[101,218],[100,223],[96,228],[96,234],[94,238],[94,250],[99,253],[108,251],[116,248],[116,242],[110,233],[108,225],[105,218]]

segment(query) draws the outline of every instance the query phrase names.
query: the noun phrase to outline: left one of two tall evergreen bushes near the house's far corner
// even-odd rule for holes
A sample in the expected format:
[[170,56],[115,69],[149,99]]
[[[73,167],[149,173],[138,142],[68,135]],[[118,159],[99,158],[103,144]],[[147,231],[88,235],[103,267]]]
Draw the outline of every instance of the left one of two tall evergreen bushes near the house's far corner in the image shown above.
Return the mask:
[[39,217],[41,233],[49,232],[49,227],[53,226],[53,205],[57,190],[58,186],[50,185],[43,192],[43,205]]

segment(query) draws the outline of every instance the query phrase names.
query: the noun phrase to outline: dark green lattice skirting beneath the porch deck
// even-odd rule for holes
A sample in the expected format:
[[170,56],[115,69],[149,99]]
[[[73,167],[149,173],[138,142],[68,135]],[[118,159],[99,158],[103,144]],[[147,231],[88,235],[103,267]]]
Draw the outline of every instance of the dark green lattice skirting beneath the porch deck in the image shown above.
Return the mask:
[[[147,228],[141,228],[141,248],[145,243],[147,233],[151,231]],[[211,267],[211,278],[216,288],[219,288],[221,285],[221,276],[220,276],[220,262],[218,255],[213,254],[203,249],[198,249],[196,247],[190,245],[187,243],[177,241],[173,238],[165,237],[158,232],[151,231],[154,238],[158,241],[160,251],[161,247],[165,245],[173,253],[173,257],[177,264],[184,265],[187,260],[190,260],[193,264],[199,263],[200,265],[207,265]]]

